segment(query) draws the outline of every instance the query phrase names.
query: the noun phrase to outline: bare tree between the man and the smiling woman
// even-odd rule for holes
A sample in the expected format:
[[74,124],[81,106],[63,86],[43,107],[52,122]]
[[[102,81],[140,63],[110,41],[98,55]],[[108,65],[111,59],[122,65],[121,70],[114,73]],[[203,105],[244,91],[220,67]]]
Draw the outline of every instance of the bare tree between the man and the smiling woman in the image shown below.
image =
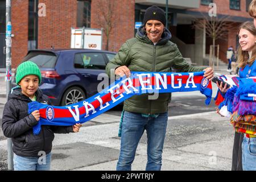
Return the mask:
[[212,39],[212,55],[210,57],[213,58],[213,61],[209,60],[210,63],[213,65],[210,65],[214,67],[214,56],[215,56],[215,42],[217,39],[228,39],[228,31],[233,30],[234,23],[230,22],[229,18],[230,16],[223,16],[222,18],[218,18],[218,16],[206,16],[202,14],[203,18],[195,19],[193,23],[193,27],[197,28],[199,30],[205,30],[205,33]]

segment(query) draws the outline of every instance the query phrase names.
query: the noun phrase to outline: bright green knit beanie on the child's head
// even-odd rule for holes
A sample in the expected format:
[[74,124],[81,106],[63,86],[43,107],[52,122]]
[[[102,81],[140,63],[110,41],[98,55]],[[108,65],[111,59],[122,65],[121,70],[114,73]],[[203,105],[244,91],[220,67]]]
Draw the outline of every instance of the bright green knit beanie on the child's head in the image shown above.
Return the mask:
[[16,76],[15,76],[16,84],[18,84],[20,82],[20,80],[22,80],[22,78],[27,75],[38,76],[39,84],[40,84],[40,82],[42,80],[40,69],[39,69],[38,65],[36,65],[35,63],[33,63],[31,61],[23,62],[16,69]]

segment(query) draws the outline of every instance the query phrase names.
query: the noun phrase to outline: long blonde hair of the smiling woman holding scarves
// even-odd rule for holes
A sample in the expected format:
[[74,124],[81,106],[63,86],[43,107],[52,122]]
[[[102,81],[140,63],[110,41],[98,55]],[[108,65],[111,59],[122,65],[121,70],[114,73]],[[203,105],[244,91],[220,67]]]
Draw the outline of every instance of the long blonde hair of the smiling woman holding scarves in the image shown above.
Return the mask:
[[[254,27],[253,22],[247,21],[245,23],[242,23],[241,26],[239,27],[238,34],[242,28],[249,31],[254,36],[256,36],[256,28]],[[238,63],[239,68],[244,68],[246,66],[246,64],[252,65],[255,59],[256,59],[256,44],[254,44],[254,46],[253,46],[253,51],[251,53],[250,60],[249,60],[248,51],[243,51],[241,48],[241,45],[238,47],[237,63]]]

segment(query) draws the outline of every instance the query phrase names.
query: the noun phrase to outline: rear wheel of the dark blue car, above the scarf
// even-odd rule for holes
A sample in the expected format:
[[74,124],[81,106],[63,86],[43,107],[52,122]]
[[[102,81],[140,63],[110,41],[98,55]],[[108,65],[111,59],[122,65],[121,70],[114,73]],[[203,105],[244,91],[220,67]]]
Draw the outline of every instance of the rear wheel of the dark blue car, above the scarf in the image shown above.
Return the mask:
[[63,98],[61,100],[61,105],[70,105],[76,102],[80,102],[82,100],[85,100],[84,91],[77,86],[73,86],[65,91]]

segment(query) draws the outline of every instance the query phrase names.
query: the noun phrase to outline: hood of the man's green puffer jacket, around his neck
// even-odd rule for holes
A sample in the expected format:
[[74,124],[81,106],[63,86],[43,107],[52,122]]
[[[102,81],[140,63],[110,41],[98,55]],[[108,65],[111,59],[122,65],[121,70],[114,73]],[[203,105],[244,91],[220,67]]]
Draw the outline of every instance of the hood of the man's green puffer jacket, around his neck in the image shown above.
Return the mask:
[[[137,39],[141,40],[142,42],[153,44],[150,39],[148,39],[144,25],[138,28],[137,34],[135,36]],[[159,42],[156,45],[163,45],[168,42],[172,38],[171,32],[164,27],[164,31],[162,34],[162,39],[159,40]]]

